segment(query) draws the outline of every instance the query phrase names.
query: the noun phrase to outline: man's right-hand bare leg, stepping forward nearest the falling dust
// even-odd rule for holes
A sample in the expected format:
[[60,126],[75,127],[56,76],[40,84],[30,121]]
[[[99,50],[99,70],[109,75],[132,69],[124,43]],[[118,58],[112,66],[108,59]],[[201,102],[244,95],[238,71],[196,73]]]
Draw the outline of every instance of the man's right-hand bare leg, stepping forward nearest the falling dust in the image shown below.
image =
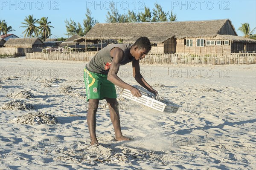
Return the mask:
[[121,125],[120,125],[120,116],[119,116],[119,109],[118,109],[118,102],[116,98],[106,98],[108,102],[109,111],[110,111],[110,118],[115,130],[115,136],[117,141],[128,141],[129,138],[122,135],[121,132]]

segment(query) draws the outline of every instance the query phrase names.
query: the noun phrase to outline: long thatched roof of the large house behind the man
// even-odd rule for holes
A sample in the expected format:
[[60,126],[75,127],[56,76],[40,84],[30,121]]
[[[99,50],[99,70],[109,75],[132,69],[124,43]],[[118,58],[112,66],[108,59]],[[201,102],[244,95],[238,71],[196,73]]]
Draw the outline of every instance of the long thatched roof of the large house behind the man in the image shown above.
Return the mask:
[[[227,29],[227,30],[226,30]],[[75,41],[122,39],[134,43],[138,37],[148,37],[151,43],[163,43],[175,37],[237,35],[230,20],[176,21],[176,22],[143,22],[143,23],[97,23],[84,37]]]

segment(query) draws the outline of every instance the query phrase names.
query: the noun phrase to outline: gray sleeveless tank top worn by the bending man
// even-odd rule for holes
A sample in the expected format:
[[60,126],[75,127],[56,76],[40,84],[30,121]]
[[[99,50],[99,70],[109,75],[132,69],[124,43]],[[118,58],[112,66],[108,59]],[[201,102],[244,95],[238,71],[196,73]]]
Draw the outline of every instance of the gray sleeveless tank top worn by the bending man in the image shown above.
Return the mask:
[[122,49],[125,54],[125,57],[120,62],[120,65],[125,65],[131,61],[134,61],[134,58],[129,59],[130,49],[132,44],[110,44],[93,56],[93,58],[86,64],[86,69],[90,72],[95,72],[99,74],[108,74],[109,68],[113,61],[113,58],[110,55],[111,49],[118,47]]

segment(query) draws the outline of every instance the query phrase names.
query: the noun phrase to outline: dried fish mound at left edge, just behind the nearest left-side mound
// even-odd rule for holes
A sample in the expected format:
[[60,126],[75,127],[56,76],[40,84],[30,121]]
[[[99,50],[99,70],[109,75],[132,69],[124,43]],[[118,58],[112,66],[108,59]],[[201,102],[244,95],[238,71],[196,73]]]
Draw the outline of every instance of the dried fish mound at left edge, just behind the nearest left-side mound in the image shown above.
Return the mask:
[[3,110],[24,110],[24,109],[34,109],[34,107],[31,104],[26,104],[24,101],[8,101],[7,103],[3,104],[1,106],[1,109]]

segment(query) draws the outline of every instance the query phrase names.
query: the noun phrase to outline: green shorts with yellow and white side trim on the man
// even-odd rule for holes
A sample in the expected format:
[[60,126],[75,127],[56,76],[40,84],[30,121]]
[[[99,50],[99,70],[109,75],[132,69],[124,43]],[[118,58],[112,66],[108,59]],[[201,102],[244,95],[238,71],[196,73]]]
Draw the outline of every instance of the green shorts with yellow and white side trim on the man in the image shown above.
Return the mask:
[[84,83],[86,88],[86,101],[89,99],[116,98],[116,88],[108,81],[108,75],[90,72],[84,69]]

